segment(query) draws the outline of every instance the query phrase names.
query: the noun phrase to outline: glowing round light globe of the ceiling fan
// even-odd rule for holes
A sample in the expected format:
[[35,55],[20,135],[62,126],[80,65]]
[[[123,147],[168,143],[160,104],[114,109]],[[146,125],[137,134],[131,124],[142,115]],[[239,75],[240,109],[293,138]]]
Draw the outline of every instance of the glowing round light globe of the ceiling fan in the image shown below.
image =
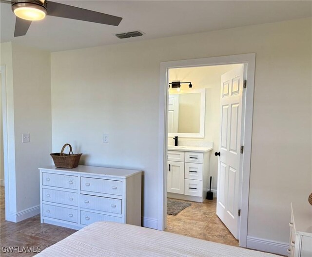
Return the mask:
[[37,4],[15,4],[12,9],[17,17],[26,20],[40,20],[47,15],[46,9]]

